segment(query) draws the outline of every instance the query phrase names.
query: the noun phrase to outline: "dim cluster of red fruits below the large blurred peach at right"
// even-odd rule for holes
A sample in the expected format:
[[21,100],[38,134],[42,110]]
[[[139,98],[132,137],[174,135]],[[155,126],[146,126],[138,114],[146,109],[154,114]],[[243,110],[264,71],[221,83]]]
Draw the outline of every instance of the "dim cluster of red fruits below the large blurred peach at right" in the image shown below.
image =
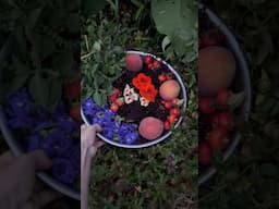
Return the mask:
[[225,149],[233,130],[233,116],[229,111],[230,93],[220,89],[216,97],[199,96],[199,136],[198,161],[202,165],[211,162],[214,149]]

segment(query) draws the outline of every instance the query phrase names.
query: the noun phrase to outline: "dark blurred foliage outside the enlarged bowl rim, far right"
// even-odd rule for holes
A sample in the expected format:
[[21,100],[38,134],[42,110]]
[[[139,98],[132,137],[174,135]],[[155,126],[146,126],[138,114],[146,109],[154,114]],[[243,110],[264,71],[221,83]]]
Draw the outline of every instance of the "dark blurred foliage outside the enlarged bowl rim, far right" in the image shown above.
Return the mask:
[[278,2],[210,2],[206,3],[234,30],[246,51],[254,101],[241,146],[199,188],[199,208],[275,209],[279,207]]

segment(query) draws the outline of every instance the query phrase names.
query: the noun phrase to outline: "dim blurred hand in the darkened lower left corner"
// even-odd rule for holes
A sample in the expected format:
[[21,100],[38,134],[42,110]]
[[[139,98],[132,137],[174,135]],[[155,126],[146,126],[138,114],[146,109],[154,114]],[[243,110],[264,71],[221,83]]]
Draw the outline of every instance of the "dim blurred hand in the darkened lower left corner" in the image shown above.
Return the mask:
[[61,194],[37,184],[36,172],[52,165],[44,151],[38,150],[14,157],[5,152],[0,157],[0,208],[38,209]]

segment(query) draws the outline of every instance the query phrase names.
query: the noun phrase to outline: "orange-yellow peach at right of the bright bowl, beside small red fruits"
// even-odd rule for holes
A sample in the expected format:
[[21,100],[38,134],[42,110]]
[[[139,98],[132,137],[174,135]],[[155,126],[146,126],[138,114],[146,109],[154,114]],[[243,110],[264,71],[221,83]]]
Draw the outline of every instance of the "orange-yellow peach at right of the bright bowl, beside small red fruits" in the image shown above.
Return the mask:
[[179,96],[180,85],[174,79],[163,82],[160,86],[160,96],[165,100],[172,100]]

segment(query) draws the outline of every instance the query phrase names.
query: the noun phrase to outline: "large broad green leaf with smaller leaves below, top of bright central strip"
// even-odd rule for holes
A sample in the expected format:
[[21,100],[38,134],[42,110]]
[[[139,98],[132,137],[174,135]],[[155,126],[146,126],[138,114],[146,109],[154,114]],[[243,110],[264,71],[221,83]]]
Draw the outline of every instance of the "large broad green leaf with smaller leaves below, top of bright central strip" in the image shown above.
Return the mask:
[[[183,62],[197,58],[197,3],[193,0],[151,1],[151,14],[159,33],[166,35],[162,50]],[[170,46],[169,46],[170,45]]]

